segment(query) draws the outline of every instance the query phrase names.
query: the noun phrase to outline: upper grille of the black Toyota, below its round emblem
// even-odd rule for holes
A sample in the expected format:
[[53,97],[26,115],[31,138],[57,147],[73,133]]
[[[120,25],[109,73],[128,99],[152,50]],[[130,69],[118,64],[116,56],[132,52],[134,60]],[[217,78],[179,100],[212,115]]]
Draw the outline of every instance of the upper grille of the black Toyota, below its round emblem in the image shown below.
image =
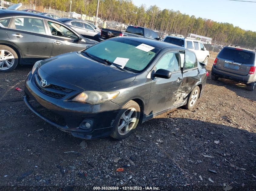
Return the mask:
[[68,95],[69,93],[71,93],[72,91],[74,91],[69,88],[65,88],[62,86],[55,85],[55,84],[50,84],[47,87],[42,88],[40,85],[41,80],[42,80],[42,78],[38,74],[36,74],[35,75],[35,84],[36,84],[37,88],[40,91],[42,91],[44,94],[47,94],[48,96],[55,97],[55,98],[63,98],[66,95]]

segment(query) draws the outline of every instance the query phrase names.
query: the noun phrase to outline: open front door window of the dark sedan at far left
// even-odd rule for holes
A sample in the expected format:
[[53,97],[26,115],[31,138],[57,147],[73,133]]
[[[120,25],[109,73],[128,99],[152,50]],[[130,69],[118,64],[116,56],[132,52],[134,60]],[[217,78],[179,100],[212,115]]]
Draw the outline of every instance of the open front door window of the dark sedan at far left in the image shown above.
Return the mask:
[[75,33],[60,24],[48,21],[48,26],[53,36],[78,39]]

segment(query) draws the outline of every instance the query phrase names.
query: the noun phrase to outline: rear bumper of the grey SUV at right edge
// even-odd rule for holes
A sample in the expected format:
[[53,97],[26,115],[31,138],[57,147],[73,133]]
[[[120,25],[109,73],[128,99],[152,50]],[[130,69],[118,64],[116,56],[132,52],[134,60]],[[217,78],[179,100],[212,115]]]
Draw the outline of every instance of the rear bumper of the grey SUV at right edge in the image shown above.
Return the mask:
[[251,82],[256,81],[256,75],[247,75],[247,76],[242,76],[242,75],[236,75],[236,74],[232,74],[229,72],[225,72],[222,70],[218,70],[214,67],[214,65],[211,68],[211,75],[214,76],[218,76],[220,78],[225,78],[225,79],[230,79],[230,80],[234,80],[234,81],[238,81],[244,84],[249,84]]

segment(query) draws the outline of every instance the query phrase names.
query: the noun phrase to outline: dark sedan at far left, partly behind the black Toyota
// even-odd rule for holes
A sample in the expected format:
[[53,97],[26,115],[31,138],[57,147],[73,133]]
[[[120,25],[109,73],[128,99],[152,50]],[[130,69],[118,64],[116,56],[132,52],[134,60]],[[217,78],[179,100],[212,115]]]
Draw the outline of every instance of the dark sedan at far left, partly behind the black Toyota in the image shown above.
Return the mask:
[[50,17],[0,8],[0,72],[95,43]]

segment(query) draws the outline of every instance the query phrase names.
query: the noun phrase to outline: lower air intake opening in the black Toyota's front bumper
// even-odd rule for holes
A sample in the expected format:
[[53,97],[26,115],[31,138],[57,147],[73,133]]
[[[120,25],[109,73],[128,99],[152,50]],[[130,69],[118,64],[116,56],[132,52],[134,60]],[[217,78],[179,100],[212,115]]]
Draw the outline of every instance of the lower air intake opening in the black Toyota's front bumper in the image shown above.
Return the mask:
[[66,122],[63,116],[48,110],[34,100],[30,100],[29,103],[38,114],[45,117],[49,121],[52,121],[53,123],[56,123],[60,126],[66,126]]

